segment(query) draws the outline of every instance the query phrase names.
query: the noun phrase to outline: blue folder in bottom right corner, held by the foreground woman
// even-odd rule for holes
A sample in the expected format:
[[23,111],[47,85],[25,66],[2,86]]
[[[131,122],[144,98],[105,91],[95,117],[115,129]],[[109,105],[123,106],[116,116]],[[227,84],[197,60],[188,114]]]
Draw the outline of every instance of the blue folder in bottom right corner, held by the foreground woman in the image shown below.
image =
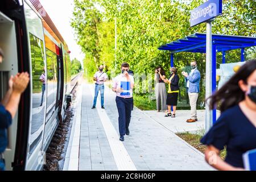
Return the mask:
[[256,149],[243,154],[243,164],[247,171],[256,171]]

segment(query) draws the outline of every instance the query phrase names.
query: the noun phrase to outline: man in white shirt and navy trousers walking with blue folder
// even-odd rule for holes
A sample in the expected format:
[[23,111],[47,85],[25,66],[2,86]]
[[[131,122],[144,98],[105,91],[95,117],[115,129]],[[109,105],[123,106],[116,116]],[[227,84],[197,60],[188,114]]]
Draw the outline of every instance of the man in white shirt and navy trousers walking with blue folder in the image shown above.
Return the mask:
[[118,110],[119,140],[125,140],[124,135],[129,135],[131,110],[133,109],[134,77],[129,75],[129,64],[121,65],[122,73],[114,78],[112,90],[117,94],[115,102]]

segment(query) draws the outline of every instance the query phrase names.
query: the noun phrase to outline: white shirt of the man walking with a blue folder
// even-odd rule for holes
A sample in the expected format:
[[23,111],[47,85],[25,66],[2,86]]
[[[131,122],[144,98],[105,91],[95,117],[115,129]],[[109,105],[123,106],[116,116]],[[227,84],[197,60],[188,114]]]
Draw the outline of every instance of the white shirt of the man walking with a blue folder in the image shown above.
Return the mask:
[[[131,84],[134,84],[134,77],[129,75],[129,84],[130,84],[130,90],[123,90],[125,93],[129,93],[127,95],[122,95],[122,93],[119,93],[117,92],[117,96],[118,97],[123,97],[123,98],[131,98],[133,97],[133,89],[131,89]],[[123,74],[120,74],[118,76],[116,76],[114,79],[113,79],[113,86],[112,88],[121,88],[121,82],[127,82],[127,78],[125,76],[123,76]]]

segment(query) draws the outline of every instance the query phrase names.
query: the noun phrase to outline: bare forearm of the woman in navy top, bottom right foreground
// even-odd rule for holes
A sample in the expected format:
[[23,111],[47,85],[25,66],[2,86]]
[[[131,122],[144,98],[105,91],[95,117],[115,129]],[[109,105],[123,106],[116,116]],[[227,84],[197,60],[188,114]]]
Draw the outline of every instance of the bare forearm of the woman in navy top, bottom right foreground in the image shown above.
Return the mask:
[[233,167],[220,158],[220,150],[210,145],[205,150],[205,160],[210,166],[220,171],[242,171],[244,169]]

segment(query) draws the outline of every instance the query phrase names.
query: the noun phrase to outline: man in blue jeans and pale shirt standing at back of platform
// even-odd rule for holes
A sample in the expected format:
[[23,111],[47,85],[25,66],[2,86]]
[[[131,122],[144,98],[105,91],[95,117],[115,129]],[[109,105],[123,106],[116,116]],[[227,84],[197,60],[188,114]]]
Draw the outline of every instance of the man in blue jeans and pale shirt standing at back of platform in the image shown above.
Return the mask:
[[93,100],[92,109],[96,108],[96,102],[98,97],[98,92],[101,91],[101,109],[105,109],[104,107],[104,82],[108,79],[108,76],[105,72],[103,72],[103,65],[100,65],[98,68],[98,72],[96,72],[93,76],[93,80],[95,83],[95,95]]

